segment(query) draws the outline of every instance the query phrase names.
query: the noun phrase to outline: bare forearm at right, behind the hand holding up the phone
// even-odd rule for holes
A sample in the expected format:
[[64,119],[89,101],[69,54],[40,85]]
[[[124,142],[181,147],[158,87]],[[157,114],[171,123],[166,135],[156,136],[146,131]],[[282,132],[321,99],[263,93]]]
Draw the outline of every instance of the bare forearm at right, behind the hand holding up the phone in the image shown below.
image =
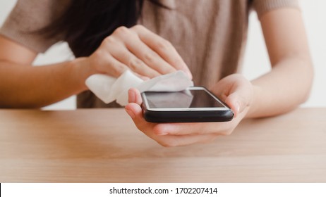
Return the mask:
[[313,82],[310,58],[285,58],[252,81],[253,102],[246,117],[286,113],[306,101]]

